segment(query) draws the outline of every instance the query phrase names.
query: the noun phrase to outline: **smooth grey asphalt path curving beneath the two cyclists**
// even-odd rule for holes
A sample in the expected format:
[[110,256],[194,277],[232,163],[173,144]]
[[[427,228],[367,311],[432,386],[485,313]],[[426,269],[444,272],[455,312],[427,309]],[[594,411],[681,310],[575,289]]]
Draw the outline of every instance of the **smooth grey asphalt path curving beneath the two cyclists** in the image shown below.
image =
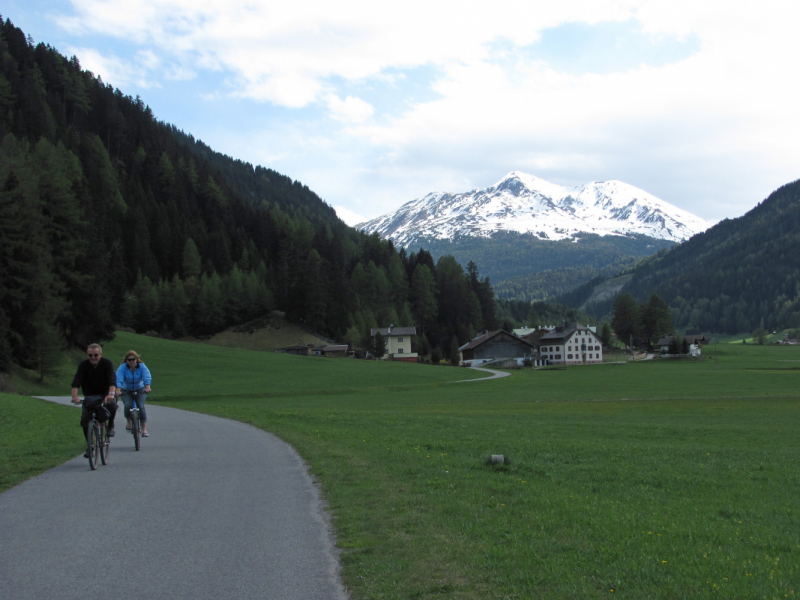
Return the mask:
[[347,598],[291,446],[226,419],[147,415],[141,451],[120,403],[107,466],[81,455],[0,494],[0,599]]

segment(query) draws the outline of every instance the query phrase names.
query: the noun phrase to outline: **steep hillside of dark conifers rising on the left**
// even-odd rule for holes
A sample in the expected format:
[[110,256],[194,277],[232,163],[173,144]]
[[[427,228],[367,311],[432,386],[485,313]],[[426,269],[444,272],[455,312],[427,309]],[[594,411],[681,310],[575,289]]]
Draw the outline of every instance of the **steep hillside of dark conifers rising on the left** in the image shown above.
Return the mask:
[[416,324],[442,349],[495,319],[474,265],[356,232],[0,22],[0,369],[44,375],[116,324],[203,334],[276,308],[354,344]]

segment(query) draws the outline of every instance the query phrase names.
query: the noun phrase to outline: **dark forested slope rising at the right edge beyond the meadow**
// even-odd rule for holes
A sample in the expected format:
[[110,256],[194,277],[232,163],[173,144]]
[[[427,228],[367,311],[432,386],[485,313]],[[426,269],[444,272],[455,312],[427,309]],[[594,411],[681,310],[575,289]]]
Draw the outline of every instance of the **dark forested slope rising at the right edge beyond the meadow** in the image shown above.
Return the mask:
[[[622,291],[640,302],[658,294],[672,309],[673,323],[693,331],[734,334],[758,327],[796,328],[798,250],[800,181],[795,181],[746,215],[726,219],[642,261]],[[608,307],[597,308],[595,314]]]

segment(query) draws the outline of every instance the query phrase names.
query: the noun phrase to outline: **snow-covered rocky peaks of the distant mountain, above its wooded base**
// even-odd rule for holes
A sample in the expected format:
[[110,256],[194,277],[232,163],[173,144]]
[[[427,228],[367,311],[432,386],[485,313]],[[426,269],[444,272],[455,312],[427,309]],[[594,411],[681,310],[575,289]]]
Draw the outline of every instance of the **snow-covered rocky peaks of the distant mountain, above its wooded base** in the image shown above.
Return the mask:
[[388,215],[356,225],[400,246],[420,238],[489,237],[497,231],[542,239],[644,234],[682,241],[710,223],[622,181],[565,188],[519,171],[492,187],[461,194],[434,192]]

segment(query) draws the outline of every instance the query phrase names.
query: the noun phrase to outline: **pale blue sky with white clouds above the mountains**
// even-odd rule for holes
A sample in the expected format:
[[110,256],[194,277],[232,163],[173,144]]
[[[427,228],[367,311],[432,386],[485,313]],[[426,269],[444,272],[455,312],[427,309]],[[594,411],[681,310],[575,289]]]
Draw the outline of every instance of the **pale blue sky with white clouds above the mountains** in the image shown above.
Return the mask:
[[512,170],[710,221],[800,177],[796,0],[4,0],[36,42],[354,224]]

